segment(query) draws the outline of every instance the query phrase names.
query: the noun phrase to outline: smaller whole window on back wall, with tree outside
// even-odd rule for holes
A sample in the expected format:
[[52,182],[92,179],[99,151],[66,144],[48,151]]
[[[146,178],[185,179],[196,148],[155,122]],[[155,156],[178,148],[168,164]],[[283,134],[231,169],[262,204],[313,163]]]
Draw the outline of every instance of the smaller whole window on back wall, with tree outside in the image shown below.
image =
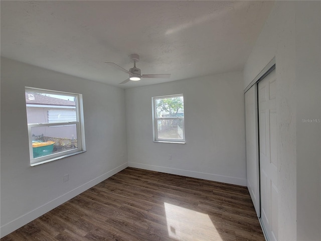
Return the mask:
[[154,142],[185,143],[183,94],[152,98]]

